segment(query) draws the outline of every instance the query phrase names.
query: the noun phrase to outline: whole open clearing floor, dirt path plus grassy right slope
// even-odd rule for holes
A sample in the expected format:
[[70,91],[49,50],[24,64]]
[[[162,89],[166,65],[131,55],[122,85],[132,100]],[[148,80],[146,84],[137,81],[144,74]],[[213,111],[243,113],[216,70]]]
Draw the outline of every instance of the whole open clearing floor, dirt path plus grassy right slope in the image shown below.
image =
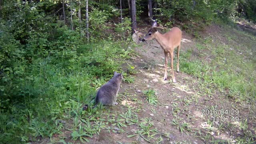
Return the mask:
[[[147,28],[138,31],[142,37]],[[233,82],[255,82],[255,36],[229,26],[207,26],[197,38],[183,30],[177,83],[172,82],[170,60],[163,80],[164,52],[156,40],[139,42],[134,51],[123,64],[134,82],[123,82],[118,105],[87,123],[101,125],[98,134],[90,138],[90,130],[84,130],[80,139],[88,144],[255,142],[255,96],[237,95],[237,87],[230,87]],[[176,59],[174,54],[174,71]],[[66,121],[62,134],[33,143],[82,143],[72,139],[72,126],[72,120]]]

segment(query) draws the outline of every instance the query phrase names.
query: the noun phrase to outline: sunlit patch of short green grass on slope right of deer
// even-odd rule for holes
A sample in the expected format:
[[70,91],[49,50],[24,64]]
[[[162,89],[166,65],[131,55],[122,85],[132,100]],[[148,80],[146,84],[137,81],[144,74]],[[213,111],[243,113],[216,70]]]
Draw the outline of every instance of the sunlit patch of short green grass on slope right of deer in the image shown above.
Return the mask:
[[189,60],[188,51],[188,54],[181,54],[185,61],[181,63],[182,70],[204,80],[204,83],[228,90],[227,96],[238,102],[256,99],[255,58],[244,60],[244,55],[229,50],[234,47],[232,45],[218,43],[216,46],[210,41],[204,43],[208,45],[210,55],[214,56],[212,61]]

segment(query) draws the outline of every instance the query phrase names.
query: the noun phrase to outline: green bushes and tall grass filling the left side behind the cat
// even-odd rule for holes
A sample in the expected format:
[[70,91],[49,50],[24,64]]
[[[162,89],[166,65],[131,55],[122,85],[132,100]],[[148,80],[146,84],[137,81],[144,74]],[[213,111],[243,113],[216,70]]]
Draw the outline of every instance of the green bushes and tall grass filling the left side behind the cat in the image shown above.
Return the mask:
[[[86,42],[83,24],[75,23],[75,30],[70,30],[44,10],[55,6],[52,1],[30,4],[10,0],[2,4],[0,141],[23,143],[52,137],[61,133],[61,121],[67,116],[74,117],[78,126],[82,104],[92,105],[96,90],[120,70],[122,59],[130,57],[131,51],[104,34],[104,24],[112,15],[92,9],[92,42]],[[105,39],[100,39],[102,36]],[[104,124],[95,124],[92,132],[88,126],[75,130],[73,139],[87,141],[86,136],[104,128]]]

